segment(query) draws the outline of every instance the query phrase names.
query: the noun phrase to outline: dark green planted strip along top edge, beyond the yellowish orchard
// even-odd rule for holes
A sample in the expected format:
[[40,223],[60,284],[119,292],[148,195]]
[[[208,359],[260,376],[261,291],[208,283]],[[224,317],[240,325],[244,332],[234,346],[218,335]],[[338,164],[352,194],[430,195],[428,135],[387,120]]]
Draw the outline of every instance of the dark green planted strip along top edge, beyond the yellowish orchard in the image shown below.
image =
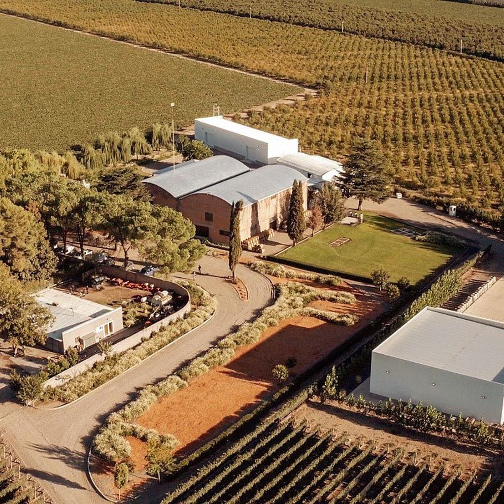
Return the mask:
[[[179,5],[179,0],[136,1]],[[504,13],[477,6],[436,0],[180,0],[180,6],[452,51],[459,51],[462,38],[467,54],[504,58]]]

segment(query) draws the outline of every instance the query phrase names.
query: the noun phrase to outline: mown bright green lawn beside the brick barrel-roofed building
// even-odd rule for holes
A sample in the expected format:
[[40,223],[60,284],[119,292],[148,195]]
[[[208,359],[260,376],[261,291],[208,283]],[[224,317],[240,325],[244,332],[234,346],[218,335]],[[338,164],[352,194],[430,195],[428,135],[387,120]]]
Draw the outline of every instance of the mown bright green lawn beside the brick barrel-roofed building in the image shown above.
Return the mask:
[[[365,214],[364,223],[359,226],[335,224],[278,257],[364,277],[369,277],[374,269],[382,266],[390,273],[392,281],[405,276],[414,284],[459,251],[392,232],[400,227],[407,226],[392,219]],[[340,237],[350,238],[350,241],[339,247],[330,245]]]

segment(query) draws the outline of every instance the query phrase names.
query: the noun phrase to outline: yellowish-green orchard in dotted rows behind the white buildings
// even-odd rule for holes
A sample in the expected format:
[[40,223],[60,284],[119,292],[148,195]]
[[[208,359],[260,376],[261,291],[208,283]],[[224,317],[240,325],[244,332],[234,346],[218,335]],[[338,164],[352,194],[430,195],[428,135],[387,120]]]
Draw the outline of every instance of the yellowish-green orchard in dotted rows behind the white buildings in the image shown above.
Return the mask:
[[334,159],[348,154],[355,136],[369,135],[401,186],[481,208],[504,204],[499,62],[132,0],[81,0],[79,9],[69,0],[0,0],[0,8],[322,86],[327,92],[321,99],[277,107],[249,123],[298,136],[304,152]]

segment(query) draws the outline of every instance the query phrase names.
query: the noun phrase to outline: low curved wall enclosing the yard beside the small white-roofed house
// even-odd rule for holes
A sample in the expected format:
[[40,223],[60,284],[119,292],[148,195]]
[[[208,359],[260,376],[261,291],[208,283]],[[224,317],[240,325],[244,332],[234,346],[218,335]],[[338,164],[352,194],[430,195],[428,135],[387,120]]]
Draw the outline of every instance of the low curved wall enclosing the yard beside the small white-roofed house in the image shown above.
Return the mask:
[[[121,278],[123,280],[128,280],[130,282],[135,283],[148,282],[149,284],[154,284],[154,286],[158,287],[159,289],[175,292],[176,294],[185,296],[187,299],[184,305],[175,313],[168,315],[168,317],[159,320],[158,322],[152,324],[151,326],[141,329],[140,331],[132,334],[128,338],[124,338],[123,340],[114,343],[112,345],[113,353],[124,352],[125,350],[137,346],[139,343],[142,342],[142,339],[148,338],[152,332],[159,331],[163,326],[166,326],[169,323],[184,317],[188,312],[191,311],[191,296],[189,295],[187,290],[184,289],[181,285],[169,282],[167,280],[161,280],[159,278],[151,278],[146,275],[142,275],[140,273],[124,271],[123,269],[117,268],[116,266],[100,265],[99,270],[104,275],[112,278]],[[95,362],[98,362],[99,360],[103,360],[103,357],[100,353],[92,355],[91,357],[88,357],[87,359],[78,362],[75,366],[69,367],[68,369],[65,369],[65,371],[61,371],[59,374],[52,376],[51,378],[49,378],[49,380],[47,380],[44,383],[44,387],[56,387],[58,385],[62,385],[71,380],[72,378],[74,378],[75,376],[77,376],[78,374],[81,374],[86,369],[92,367],[93,364]]]

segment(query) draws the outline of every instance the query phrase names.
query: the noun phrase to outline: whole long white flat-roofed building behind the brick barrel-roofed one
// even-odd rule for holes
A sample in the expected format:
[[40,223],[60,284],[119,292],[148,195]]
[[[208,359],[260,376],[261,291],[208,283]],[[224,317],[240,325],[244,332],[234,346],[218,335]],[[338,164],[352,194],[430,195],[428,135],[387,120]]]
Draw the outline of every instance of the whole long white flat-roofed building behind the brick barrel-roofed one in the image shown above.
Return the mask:
[[272,164],[287,154],[298,151],[297,138],[288,139],[224,119],[222,115],[194,121],[195,139],[225,154]]

